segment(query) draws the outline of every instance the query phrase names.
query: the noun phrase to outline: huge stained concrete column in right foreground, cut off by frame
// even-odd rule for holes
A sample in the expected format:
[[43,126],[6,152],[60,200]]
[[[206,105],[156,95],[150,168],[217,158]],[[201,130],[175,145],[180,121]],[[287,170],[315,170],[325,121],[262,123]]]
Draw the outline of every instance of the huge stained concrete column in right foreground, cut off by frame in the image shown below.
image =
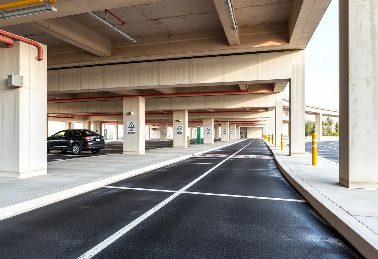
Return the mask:
[[377,1],[339,2],[339,183],[378,189]]

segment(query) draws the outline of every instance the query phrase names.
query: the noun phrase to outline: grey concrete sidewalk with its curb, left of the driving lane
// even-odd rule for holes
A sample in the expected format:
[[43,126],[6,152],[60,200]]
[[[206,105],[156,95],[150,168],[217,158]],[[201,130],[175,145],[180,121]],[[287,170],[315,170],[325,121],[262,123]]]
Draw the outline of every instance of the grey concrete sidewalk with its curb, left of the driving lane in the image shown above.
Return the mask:
[[46,175],[0,177],[0,220],[243,140],[54,161],[47,164]]

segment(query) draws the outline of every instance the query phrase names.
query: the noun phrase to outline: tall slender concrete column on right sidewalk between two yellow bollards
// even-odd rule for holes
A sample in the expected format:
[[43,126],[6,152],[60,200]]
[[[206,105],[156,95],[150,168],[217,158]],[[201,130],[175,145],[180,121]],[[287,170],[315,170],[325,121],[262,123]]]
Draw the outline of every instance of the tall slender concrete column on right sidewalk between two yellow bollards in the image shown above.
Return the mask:
[[305,154],[305,52],[291,51],[290,156]]

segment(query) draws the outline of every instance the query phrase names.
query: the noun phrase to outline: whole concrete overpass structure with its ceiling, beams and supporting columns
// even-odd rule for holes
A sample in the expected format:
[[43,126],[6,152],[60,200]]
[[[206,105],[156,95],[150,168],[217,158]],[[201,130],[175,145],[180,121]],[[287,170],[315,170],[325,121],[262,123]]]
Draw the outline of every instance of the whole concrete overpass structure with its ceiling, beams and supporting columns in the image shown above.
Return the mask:
[[[124,134],[124,154],[143,154],[145,125],[183,126],[182,134],[174,134],[174,147],[185,148],[188,125],[214,129],[220,124],[226,131],[259,126],[263,134],[279,136],[282,111],[288,109],[290,154],[304,154],[305,113],[331,115],[304,103],[304,49],[329,2],[71,0],[52,3],[56,11],[26,16],[12,15],[25,6],[0,5],[8,15],[0,19],[0,34],[8,37],[1,38],[6,47],[0,48],[0,172],[15,177],[47,173],[46,114],[50,119],[93,121],[96,128],[103,120],[122,121],[124,128],[135,122],[136,134]],[[347,21],[340,25],[340,53],[348,54],[359,45],[344,34],[355,9],[340,10]],[[340,60],[341,84],[362,78],[347,72],[353,70],[353,58]],[[376,78],[374,71],[369,78]],[[11,74],[23,76],[22,87],[14,82],[8,86]],[[290,106],[282,100],[288,83]],[[342,111],[350,111],[340,117],[345,136],[340,183],[376,186],[378,174],[364,174],[354,166],[369,157],[358,154],[371,150],[351,144],[360,136],[354,134],[360,131],[361,117],[353,116],[363,111],[363,118],[372,118],[363,98],[375,95],[353,92],[354,85],[345,83],[351,91],[340,92]],[[367,121],[369,139],[378,124]],[[213,135],[206,136],[206,144],[213,143]],[[372,170],[378,168],[374,163],[366,161]]]

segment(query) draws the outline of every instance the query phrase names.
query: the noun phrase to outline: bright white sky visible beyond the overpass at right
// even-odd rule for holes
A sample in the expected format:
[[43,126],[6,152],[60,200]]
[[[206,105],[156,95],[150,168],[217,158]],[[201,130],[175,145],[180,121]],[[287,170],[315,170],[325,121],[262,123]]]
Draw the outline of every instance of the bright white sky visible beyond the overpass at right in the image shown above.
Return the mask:
[[[339,3],[332,0],[305,50],[305,102],[339,109]],[[284,95],[289,96],[289,87]]]

